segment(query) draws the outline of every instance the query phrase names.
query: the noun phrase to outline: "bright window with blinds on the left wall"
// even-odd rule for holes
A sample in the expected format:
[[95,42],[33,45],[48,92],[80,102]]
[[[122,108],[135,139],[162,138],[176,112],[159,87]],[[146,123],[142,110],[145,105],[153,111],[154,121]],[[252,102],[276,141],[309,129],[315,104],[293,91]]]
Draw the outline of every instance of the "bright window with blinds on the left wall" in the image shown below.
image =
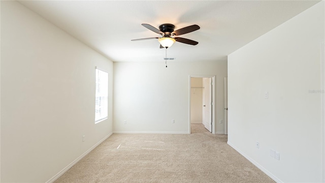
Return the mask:
[[108,117],[108,73],[96,68],[95,123]]

